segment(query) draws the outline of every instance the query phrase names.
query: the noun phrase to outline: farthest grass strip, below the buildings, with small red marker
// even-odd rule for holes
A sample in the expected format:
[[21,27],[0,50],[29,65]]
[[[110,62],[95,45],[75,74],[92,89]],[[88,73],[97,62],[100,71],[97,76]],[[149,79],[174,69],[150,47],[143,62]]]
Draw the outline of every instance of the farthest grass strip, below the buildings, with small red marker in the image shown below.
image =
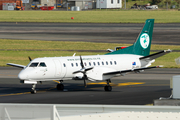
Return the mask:
[[[72,20],[71,17],[74,17]],[[0,11],[0,22],[180,23],[179,11]]]

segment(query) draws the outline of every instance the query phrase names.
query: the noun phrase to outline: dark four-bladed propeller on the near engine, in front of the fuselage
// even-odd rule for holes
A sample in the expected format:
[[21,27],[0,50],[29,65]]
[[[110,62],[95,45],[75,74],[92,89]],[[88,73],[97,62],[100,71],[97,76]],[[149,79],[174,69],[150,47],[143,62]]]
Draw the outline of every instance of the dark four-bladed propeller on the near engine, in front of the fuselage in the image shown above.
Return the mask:
[[87,75],[86,75],[86,72],[89,71],[89,70],[91,70],[91,69],[93,69],[93,67],[91,67],[91,68],[85,68],[85,67],[84,67],[84,64],[83,64],[83,60],[82,60],[81,55],[80,55],[80,65],[81,65],[82,69],[73,72],[73,74],[76,74],[76,73],[79,73],[79,72],[83,73],[84,86],[86,87],[86,80],[88,80],[88,77],[87,77]]

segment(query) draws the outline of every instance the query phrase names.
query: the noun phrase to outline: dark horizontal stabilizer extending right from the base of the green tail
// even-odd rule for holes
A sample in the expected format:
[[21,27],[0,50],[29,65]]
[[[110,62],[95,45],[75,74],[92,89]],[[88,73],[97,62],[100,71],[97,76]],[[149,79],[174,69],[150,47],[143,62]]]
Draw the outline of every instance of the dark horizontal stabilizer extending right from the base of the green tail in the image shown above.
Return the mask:
[[161,57],[161,56],[163,56],[163,55],[165,55],[167,53],[170,53],[170,52],[172,52],[172,50],[163,50],[163,51],[160,51],[160,52],[148,55],[148,56],[141,57],[139,59],[140,60],[153,60],[153,59]]

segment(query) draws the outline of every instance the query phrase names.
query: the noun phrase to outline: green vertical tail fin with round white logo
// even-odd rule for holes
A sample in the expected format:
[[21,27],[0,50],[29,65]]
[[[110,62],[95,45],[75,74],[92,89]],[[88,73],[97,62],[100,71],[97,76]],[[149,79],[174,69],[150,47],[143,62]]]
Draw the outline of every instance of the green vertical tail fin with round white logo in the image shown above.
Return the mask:
[[147,19],[143,29],[141,30],[138,38],[132,46],[124,48],[122,50],[117,50],[106,55],[112,54],[134,54],[147,56],[150,53],[151,40],[153,34],[154,19]]

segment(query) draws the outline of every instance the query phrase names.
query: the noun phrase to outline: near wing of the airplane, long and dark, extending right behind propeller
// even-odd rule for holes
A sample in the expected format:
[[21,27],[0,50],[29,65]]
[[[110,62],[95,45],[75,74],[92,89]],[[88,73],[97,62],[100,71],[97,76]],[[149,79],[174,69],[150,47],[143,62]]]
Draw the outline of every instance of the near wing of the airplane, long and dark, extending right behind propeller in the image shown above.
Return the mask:
[[163,66],[143,67],[143,68],[136,68],[136,69],[130,69],[130,70],[114,71],[114,72],[103,73],[103,75],[115,75],[115,74],[122,74],[122,73],[127,73],[127,72],[137,72],[140,70],[159,68],[159,67],[163,67]]

